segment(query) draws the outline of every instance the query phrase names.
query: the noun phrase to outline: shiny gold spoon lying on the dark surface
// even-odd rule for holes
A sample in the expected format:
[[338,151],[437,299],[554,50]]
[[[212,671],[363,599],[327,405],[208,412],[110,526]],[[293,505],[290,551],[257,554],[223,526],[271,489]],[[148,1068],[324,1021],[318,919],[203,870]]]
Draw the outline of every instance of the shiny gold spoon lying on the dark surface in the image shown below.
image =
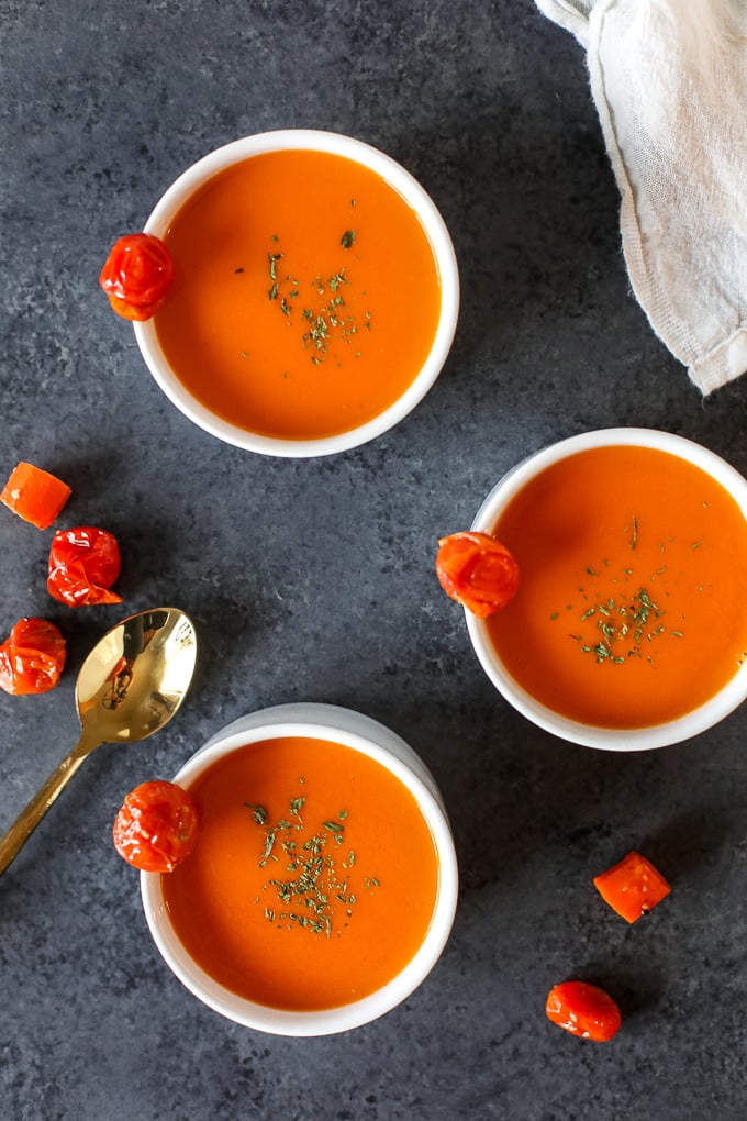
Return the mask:
[[196,657],[195,628],[176,608],[130,615],[94,646],[75,684],[81,739],[0,841],[0,876],[94,748],[164,728],[185,698]]

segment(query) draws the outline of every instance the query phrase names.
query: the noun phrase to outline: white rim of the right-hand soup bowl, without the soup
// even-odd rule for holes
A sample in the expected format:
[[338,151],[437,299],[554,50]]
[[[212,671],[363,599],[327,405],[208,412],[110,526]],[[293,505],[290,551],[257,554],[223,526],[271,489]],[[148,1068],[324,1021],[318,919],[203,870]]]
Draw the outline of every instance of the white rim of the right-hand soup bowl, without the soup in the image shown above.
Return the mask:
[[[673,433],[656,428],[598,428],[558,441],[522,460],[512,467],[487,494],[473,521],[471,528],[492,532],[508,502],[525,484],[553,463],[594,447],[634,446],[669,452],[687,460],[720,483],[747,518],[747,481],[726,460]],[[475,654],[483,669],[498,693],[533,724],[582,747],[605,751],[648,751],[692,739],[728,716],[747,697],[747,663],[710,701],[676,720],[641,728],[597,728],[570,720],[535,701],[507,671],[491,642],[484,620],[465,611],[467,630]]]

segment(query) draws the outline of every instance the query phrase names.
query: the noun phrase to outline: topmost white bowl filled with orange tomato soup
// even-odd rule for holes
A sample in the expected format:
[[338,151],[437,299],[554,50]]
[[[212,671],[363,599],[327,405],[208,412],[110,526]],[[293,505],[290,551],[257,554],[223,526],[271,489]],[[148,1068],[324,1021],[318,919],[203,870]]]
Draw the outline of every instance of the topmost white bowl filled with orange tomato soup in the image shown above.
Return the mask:
[[351,137],[224,145],[146,224],[174,260],[134,332],[170,400],[249,451],[317,456],[386,432],[433,385],[459,308],[451,239],[420,184]]

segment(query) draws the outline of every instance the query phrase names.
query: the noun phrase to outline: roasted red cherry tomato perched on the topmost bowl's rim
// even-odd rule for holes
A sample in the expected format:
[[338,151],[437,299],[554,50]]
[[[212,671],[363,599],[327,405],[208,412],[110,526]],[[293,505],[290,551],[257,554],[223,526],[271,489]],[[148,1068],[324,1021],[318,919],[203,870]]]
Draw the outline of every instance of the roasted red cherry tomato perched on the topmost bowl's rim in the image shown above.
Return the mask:
[[129,233],[112,245],[99,284],[118,315],[149,319],[164,305],[175,278],[171,254],[152,233]]

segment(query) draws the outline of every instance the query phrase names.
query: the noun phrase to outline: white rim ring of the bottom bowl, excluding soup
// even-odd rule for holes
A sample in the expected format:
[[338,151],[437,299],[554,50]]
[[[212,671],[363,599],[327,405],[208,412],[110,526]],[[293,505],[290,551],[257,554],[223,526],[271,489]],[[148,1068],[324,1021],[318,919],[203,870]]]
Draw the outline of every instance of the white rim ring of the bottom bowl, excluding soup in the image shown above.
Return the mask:
[[[286,1011],[237,995],[215,981],[195,962],[171,926],[164,904],[159,873],[140,873],[142,905],[153,942],[167,965],[193,995],[214,1011],[243,1027],[271,1035],[296,1037],[333,1035],[362,1027],[390,1012],[407,1000],[436,966],[449,939],[456,916],[458,897],[456,850],[445,809],[418,775],[389,749],[368,736],[333,724],[281,722],[260,724],[245,731],[228,732],[226,735],[217,733],[187,760],[175,775],[174,781],[188,788],[207,767],[237,748],[281,736],[327,739],[353,748],[391,771],[415,798],[433,837],[439,874],[431,921],[420,948],[410,962],[382,989],[362,1000],[318,1011]],[[404,745],[412,751],[408,744]],[[419,757],[417,758],[419,760]]]

